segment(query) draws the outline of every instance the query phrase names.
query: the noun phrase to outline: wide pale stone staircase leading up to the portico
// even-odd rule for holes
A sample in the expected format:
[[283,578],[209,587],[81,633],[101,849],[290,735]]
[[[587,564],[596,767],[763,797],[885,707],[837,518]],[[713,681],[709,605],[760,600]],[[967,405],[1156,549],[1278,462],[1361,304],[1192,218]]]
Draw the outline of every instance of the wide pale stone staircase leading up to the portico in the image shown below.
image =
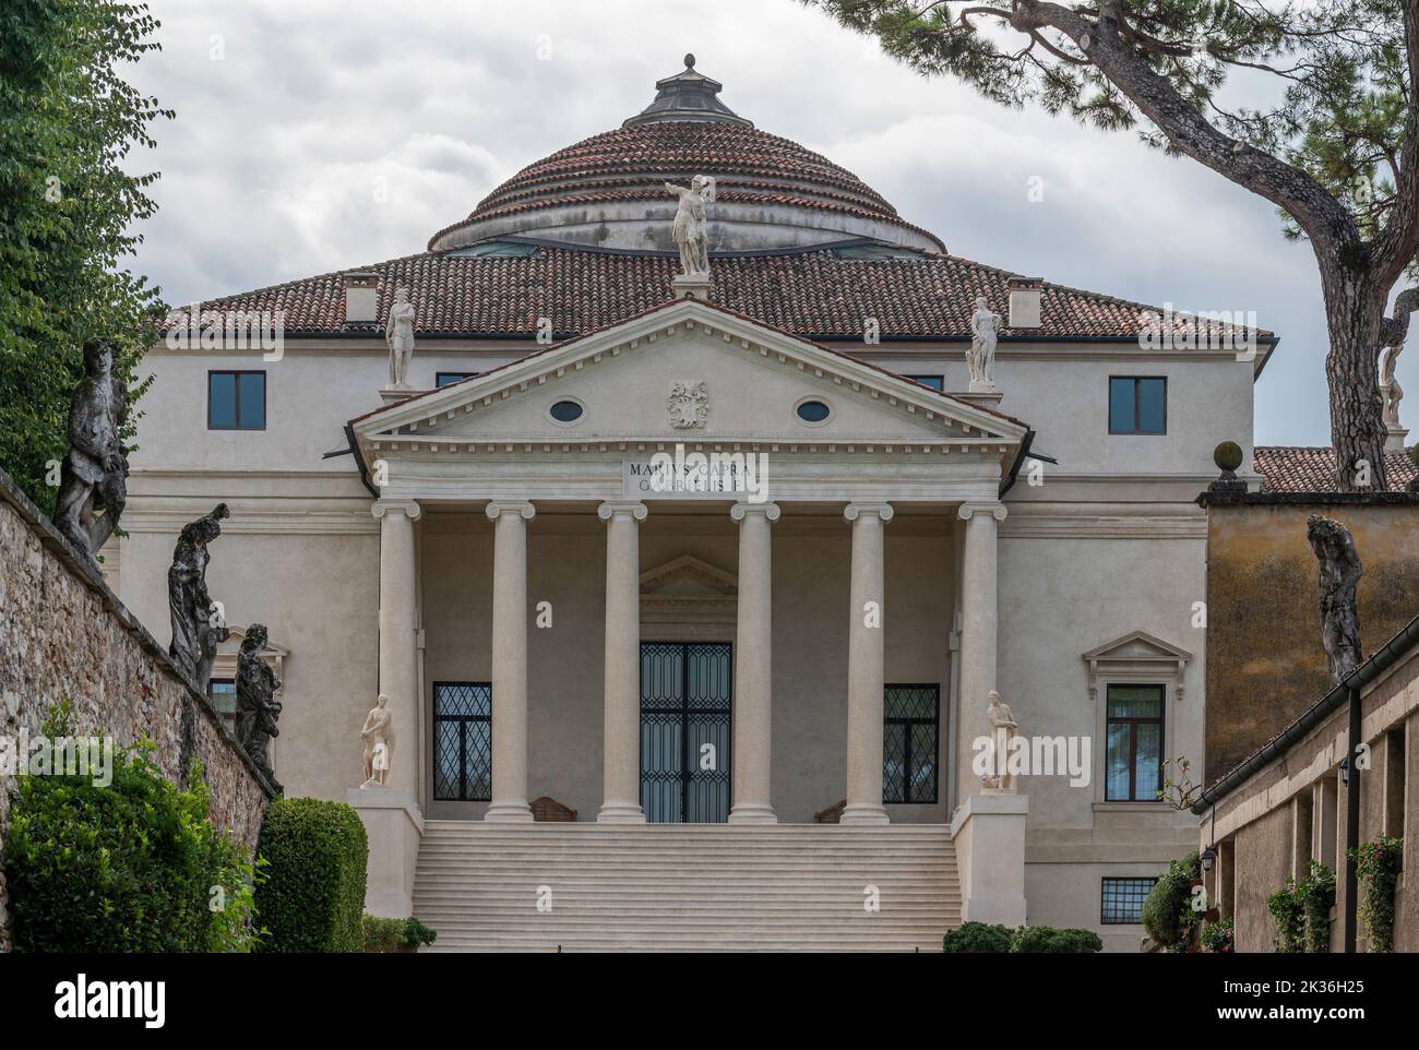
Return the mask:
[[426,951],[910,952],[941,951],[961,891],[942,824],[429,820],[414,914]]

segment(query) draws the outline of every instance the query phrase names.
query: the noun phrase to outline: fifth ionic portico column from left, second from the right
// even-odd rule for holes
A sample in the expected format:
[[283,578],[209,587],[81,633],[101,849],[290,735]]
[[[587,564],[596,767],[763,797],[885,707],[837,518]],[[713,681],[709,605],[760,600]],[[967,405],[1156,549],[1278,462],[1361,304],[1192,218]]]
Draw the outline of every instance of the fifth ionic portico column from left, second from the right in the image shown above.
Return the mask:
[[844,824],[885,824],[883,687],[887,682],[883,528],[891,504],[849,504],[853,524],[851,619],[847,633],[847,806]]

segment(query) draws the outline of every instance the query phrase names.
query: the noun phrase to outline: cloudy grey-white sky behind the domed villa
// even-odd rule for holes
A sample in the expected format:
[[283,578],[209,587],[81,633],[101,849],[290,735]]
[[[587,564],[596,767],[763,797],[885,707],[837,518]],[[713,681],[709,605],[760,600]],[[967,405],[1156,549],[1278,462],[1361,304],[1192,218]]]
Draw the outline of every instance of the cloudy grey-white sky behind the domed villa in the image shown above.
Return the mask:
[[[1256,440],[1328,444],[1315,264],[1270,204],[1131,135],[924,81],[795,0],[149,3],[163,50],[131,79],[177,116],[133,165],[162,172],[138,268],[169,302],[421,251],[524,165],[639,112],[694,51],[732,109],[856,172],[956,255],[1256,311],[1281,336]],[[1419,390],[1419,355],[1399,379]]]

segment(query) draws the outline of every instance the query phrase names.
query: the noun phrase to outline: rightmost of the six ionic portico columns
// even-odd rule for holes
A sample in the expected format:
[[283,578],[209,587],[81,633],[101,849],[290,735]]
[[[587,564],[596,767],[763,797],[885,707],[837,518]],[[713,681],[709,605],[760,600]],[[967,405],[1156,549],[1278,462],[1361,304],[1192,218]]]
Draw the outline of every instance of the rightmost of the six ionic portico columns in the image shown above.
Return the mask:
[[986,705],[995,688],[998,641],[996,522],[1005,521],[1005,504],[962,504],[956,514],[966,522],[961,565],[961,688],[958,692],[956,802],[981,793],[981,779],[971,769],[975,742],[989,734]]

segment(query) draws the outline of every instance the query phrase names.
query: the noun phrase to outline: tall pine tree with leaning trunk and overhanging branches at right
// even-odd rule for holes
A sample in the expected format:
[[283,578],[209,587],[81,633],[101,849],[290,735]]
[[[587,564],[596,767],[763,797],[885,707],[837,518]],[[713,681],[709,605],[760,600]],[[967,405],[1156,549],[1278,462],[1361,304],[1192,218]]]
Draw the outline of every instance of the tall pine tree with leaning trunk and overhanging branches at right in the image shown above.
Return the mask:
[[[927,75],[1192,158],[1276,204],[1320,268],[1341,491],[1385,487],[1378,359],[1419,288],[1415,0],[802,0]],[[1225,91],[1242,87],[1250,91]],[[1230,99],[1256,88],[1267,105]],[[1223,98],[1226,95],[1226,98]]]

